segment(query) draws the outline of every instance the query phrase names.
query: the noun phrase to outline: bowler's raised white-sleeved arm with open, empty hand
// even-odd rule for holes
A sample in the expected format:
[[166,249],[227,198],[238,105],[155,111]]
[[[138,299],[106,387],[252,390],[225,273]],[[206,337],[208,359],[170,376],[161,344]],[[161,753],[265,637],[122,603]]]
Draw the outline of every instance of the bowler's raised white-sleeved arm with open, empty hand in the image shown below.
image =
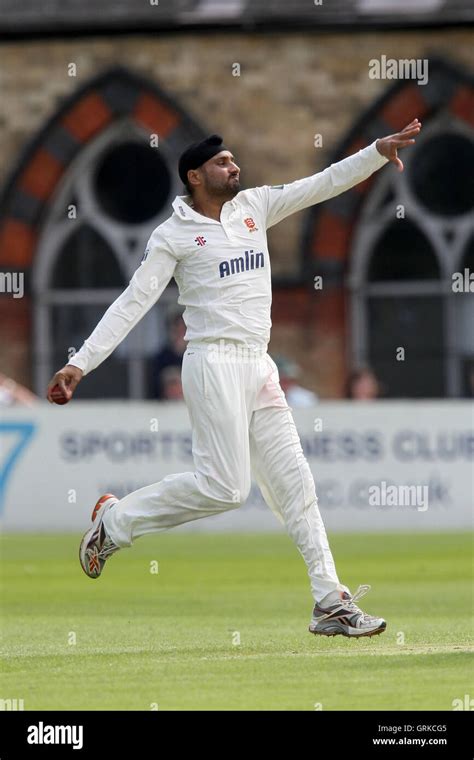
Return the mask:
[[402,171],[403,164],[397,151],[412,145],[420,129],[421,123],[414,119],[401,132],[374,140],[367,148],[331,164],[324,171],[311,177],[298,179],[286,185],[264,185],[255,188],[260,193],[267,229],[290,214],[349,190],[370,177],[388,161],[393,161],[399,171]]

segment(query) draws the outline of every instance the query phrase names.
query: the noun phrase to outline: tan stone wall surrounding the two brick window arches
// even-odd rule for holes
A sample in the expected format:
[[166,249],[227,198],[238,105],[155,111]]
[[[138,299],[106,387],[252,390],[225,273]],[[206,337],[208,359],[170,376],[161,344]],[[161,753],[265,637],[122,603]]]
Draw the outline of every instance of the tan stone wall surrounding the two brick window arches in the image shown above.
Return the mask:
[[[369,78],[370,59],[382,55],[429,59],[436,55],[473,70],[472,42],[469,29],[447,28],[354,33],[209,32],[3,43],[0,185],[61,98],[117,64],[151,78],[206,132],[223,134],[240,163],[243,185],[253,186],[288,182],[328,164],[331,151],[361,112],[392,84]],[[69,76],[71,63],[75,64],[76,76]],[[233,76],[236,63],[240,76]],[[315,134],[323,137],[320,148],[314,147]],[[304,212],[269,232],[275,277],[299,273],[303,220]],[[321,374],[324,343],[308,354],[304,331],[307,307],[299,301],[292,311],[287,300],[284,294],[275,298],[272,350],[287,353],[301,363],[306,385],[324,396],[339,396],[344,356],[336,361],[334,372]],[[28,332],[17,325],[12,326],[12,333],[21,337],[12,339],[14,345],[8,350],[4,347],[0,369],[29,385]],[[4,331],[2,340],[3,336]]]

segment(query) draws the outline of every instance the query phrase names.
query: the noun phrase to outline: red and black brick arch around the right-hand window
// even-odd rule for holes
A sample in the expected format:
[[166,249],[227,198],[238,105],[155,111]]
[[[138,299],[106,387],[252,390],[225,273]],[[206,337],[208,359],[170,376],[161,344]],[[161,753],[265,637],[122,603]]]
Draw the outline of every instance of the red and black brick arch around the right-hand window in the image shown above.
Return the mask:
[[[430,59],[428,84],[398,81],[389,87],[358,118],[327,165],[366,147],[376,137],[398,131],[414,117],[426,123],[446,108],[453,117],[474,128],[472,77],[457,65]],[[315,362],[320,365],[324,360],[328,367],[326,383],[323,379],[322,385],[331,387],[330,395],[336,397],[344,394],[347,374],[348,312],[344,278],[360,209],[374,178],[372,175],[346,193],[312,207],[303,230],[302,271],[312,291],[308,339]],[[322,290],[315,291],[312,287],[315,275],[323,277]]]

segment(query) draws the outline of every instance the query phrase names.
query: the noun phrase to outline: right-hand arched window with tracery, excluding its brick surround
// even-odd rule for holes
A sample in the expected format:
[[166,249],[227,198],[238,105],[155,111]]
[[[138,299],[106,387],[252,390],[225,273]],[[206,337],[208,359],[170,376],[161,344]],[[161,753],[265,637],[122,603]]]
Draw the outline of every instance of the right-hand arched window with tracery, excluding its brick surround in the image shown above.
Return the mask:
[[452,288],[473,271],[472,130],[440,114],[402,158],[404,172],[376,175],[354,236],[352,362],[388,397],[472,395],[474,293]]

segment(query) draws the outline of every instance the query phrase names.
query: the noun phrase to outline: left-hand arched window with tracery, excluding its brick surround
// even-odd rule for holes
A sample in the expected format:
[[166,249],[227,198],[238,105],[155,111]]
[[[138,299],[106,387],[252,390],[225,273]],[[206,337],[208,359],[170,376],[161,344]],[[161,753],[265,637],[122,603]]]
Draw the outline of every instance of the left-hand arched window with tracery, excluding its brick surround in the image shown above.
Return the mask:
[[[171,163],[171,162],[170,162]],[[166,150],[128,120],[88,145],[49,206],[34,270],[37,382],[78,350],[139,266],[147,240],[170,215],[181,186]],[[79,398],[143,398],[152,357],[162,347],[170,284],[160,302],[77,390]]]

